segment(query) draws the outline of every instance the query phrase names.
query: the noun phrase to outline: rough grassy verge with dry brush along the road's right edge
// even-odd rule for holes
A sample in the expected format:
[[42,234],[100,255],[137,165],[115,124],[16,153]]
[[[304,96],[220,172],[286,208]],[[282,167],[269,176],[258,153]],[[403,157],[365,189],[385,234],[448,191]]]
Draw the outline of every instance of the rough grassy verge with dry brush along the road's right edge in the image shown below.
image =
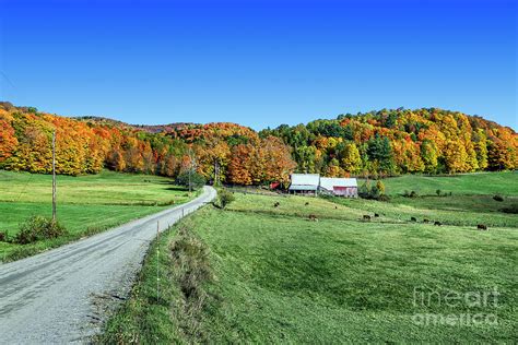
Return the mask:
[[198,318],[211,297],[199,270],[193,269],[210,270],[210,265],[204,258],[207,246],[191,233],[191,218],[188,215],[152,242],[130,298],[94,343],[183,344],[203,336]]

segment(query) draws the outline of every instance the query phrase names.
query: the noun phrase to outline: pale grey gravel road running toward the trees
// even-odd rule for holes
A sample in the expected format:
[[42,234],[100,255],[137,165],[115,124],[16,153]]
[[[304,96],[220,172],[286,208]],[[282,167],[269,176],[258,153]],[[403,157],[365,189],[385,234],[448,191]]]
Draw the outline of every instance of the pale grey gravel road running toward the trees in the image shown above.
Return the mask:
[[106,309],[127,296],[160,230],[215,198],[189,203],[16,262],[0,264],[0,343],[89,342]]

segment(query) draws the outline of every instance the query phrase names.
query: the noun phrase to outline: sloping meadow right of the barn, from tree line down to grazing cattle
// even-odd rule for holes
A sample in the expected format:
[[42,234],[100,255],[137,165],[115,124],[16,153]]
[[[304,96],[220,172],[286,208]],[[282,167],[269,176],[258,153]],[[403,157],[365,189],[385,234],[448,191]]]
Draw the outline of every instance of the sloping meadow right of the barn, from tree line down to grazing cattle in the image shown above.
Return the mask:
[[[447,177],[405,175],[382,180],[388,202],[333,199],[341,205],[378,213],[395,221],[415,217],[443,224],[518,227],[516,214],[502,212],[518,204],[518,172],[480,172]],[[363,181],[358,181],[362,185]],[[440,190],[440,195],[436,193]],[[405,198],[414,191],[416,198]],[[503,201],[493,199],[502,195]]]

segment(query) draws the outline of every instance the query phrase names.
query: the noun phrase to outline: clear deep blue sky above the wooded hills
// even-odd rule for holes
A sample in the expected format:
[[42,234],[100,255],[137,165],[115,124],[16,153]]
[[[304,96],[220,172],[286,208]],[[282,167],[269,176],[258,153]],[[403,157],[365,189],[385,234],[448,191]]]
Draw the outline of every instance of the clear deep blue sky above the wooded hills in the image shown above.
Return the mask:
[[505,0],[0,0],[0,99],[256,129],[440,107],[517,129]]

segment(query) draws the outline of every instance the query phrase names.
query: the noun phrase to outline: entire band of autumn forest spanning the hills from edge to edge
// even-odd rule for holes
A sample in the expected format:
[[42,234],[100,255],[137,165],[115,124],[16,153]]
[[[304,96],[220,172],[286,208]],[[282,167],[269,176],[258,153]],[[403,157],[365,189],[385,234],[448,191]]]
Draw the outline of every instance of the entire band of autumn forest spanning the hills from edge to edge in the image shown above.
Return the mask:
[[131,126],[67,118],[0,103],[0,168],[47,174],[51,132],[57,171],[176,177],[196,168],[208,180],[259,185],[290,172],[325,176],[516,169],[518,135],[481,117],[429,109],[342,115],[256,132],[235,123]]

